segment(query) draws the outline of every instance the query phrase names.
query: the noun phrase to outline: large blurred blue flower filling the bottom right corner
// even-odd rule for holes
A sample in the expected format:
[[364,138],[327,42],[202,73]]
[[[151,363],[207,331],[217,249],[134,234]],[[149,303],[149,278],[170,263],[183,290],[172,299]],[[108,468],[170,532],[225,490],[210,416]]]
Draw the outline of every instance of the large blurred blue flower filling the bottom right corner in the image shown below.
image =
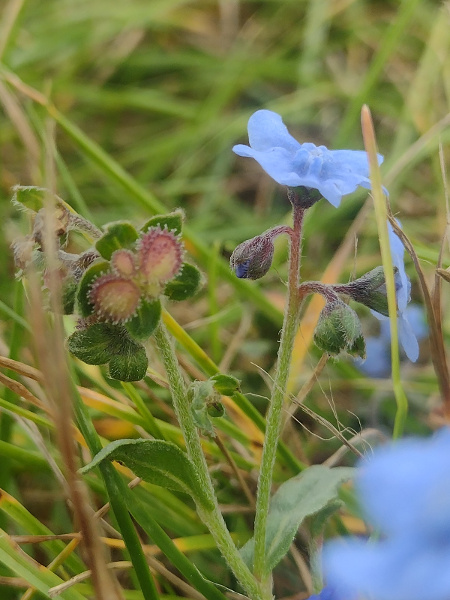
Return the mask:
[[356,490],[386,537],[328,543],[328,584],[367,600],[448,600],[450,429],[377,449],[360,464]]

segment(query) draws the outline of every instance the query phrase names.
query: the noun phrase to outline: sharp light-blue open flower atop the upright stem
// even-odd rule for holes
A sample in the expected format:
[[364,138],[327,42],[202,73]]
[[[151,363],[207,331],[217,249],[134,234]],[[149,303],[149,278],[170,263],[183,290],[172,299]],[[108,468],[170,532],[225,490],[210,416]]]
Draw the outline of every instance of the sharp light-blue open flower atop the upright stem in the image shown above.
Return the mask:
[[[319,190],[333,206],[358,186],[371,187],[366,152],[300,144],[280,115],[270,110],[258,110],[250,117],[248,137],[250,146],[238,144],[233,152],[254,158],[277,183]],[[381,155],[378,162],[383,162]]]

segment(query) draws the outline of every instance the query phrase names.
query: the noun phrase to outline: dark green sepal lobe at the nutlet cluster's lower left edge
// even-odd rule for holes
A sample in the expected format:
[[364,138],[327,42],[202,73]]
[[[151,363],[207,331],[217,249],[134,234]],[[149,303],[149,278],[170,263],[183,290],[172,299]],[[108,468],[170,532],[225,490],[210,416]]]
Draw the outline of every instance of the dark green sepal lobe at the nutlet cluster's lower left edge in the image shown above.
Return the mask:
[[88,365],[104,365],[120,351],[124,332],[121,325],[96,323],[72,333],[67,348]]

